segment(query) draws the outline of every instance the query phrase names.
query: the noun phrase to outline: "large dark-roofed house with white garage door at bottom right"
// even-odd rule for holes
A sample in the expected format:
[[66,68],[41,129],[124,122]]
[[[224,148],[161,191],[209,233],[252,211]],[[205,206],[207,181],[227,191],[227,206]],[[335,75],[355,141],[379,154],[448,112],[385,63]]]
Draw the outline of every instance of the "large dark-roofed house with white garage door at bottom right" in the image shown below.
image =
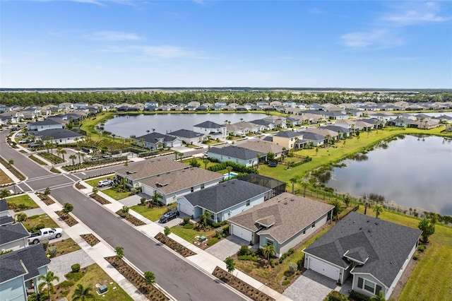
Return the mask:
[[304,267],[386,300],[415,254],[421,230],[352,211],[303,250]]

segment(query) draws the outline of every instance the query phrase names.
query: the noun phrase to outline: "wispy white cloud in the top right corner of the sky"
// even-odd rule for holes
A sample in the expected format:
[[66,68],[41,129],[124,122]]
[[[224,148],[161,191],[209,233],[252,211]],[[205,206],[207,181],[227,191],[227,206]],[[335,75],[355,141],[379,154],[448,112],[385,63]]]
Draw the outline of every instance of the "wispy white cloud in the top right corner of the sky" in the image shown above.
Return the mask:
[[396,25],[414,25],[419,23],[441,23],[451,20],[451,16],[440,16],[441,8],[434,2],[423,3],[416,6],[402,6],[396,13],[383,15],[382,20]]

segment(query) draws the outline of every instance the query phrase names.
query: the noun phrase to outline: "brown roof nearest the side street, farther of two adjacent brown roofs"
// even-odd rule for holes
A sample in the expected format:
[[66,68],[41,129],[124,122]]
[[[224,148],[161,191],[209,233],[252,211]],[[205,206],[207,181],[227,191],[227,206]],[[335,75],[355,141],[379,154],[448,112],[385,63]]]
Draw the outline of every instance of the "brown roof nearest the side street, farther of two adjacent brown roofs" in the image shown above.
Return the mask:
[[136,180],[166,174],[167,172],[174,172],[175,170],[183,170],[185,168],[189,168],[189,165],[159,158],[145,160],[133,166],[122,167],[115,172],[119,175],[129,177],[129,179]]

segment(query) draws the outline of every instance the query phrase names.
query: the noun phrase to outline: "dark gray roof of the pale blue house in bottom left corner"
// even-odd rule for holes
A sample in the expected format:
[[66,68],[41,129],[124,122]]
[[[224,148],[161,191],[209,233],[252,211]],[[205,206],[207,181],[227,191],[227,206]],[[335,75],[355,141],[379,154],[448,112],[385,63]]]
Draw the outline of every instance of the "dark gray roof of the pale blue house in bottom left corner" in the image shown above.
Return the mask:
[[[23,262],[26,270],[20,261]],[[15,252],[0,256],[0,283],[24,275],[24,280],[28,281],[40,275],[38,268],[50,264],[41,244],[33,244],[30,247],[19,249]]]

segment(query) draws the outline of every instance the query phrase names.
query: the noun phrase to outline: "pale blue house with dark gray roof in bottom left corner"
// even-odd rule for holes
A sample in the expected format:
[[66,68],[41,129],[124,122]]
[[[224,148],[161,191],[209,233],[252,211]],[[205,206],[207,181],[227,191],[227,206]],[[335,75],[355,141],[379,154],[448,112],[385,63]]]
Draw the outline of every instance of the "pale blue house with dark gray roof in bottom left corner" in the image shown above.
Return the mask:
[[41,244],[0,256],[1,300],[26,301],[29,293],[39,293],[37,278],[47,273],[49,264]]

